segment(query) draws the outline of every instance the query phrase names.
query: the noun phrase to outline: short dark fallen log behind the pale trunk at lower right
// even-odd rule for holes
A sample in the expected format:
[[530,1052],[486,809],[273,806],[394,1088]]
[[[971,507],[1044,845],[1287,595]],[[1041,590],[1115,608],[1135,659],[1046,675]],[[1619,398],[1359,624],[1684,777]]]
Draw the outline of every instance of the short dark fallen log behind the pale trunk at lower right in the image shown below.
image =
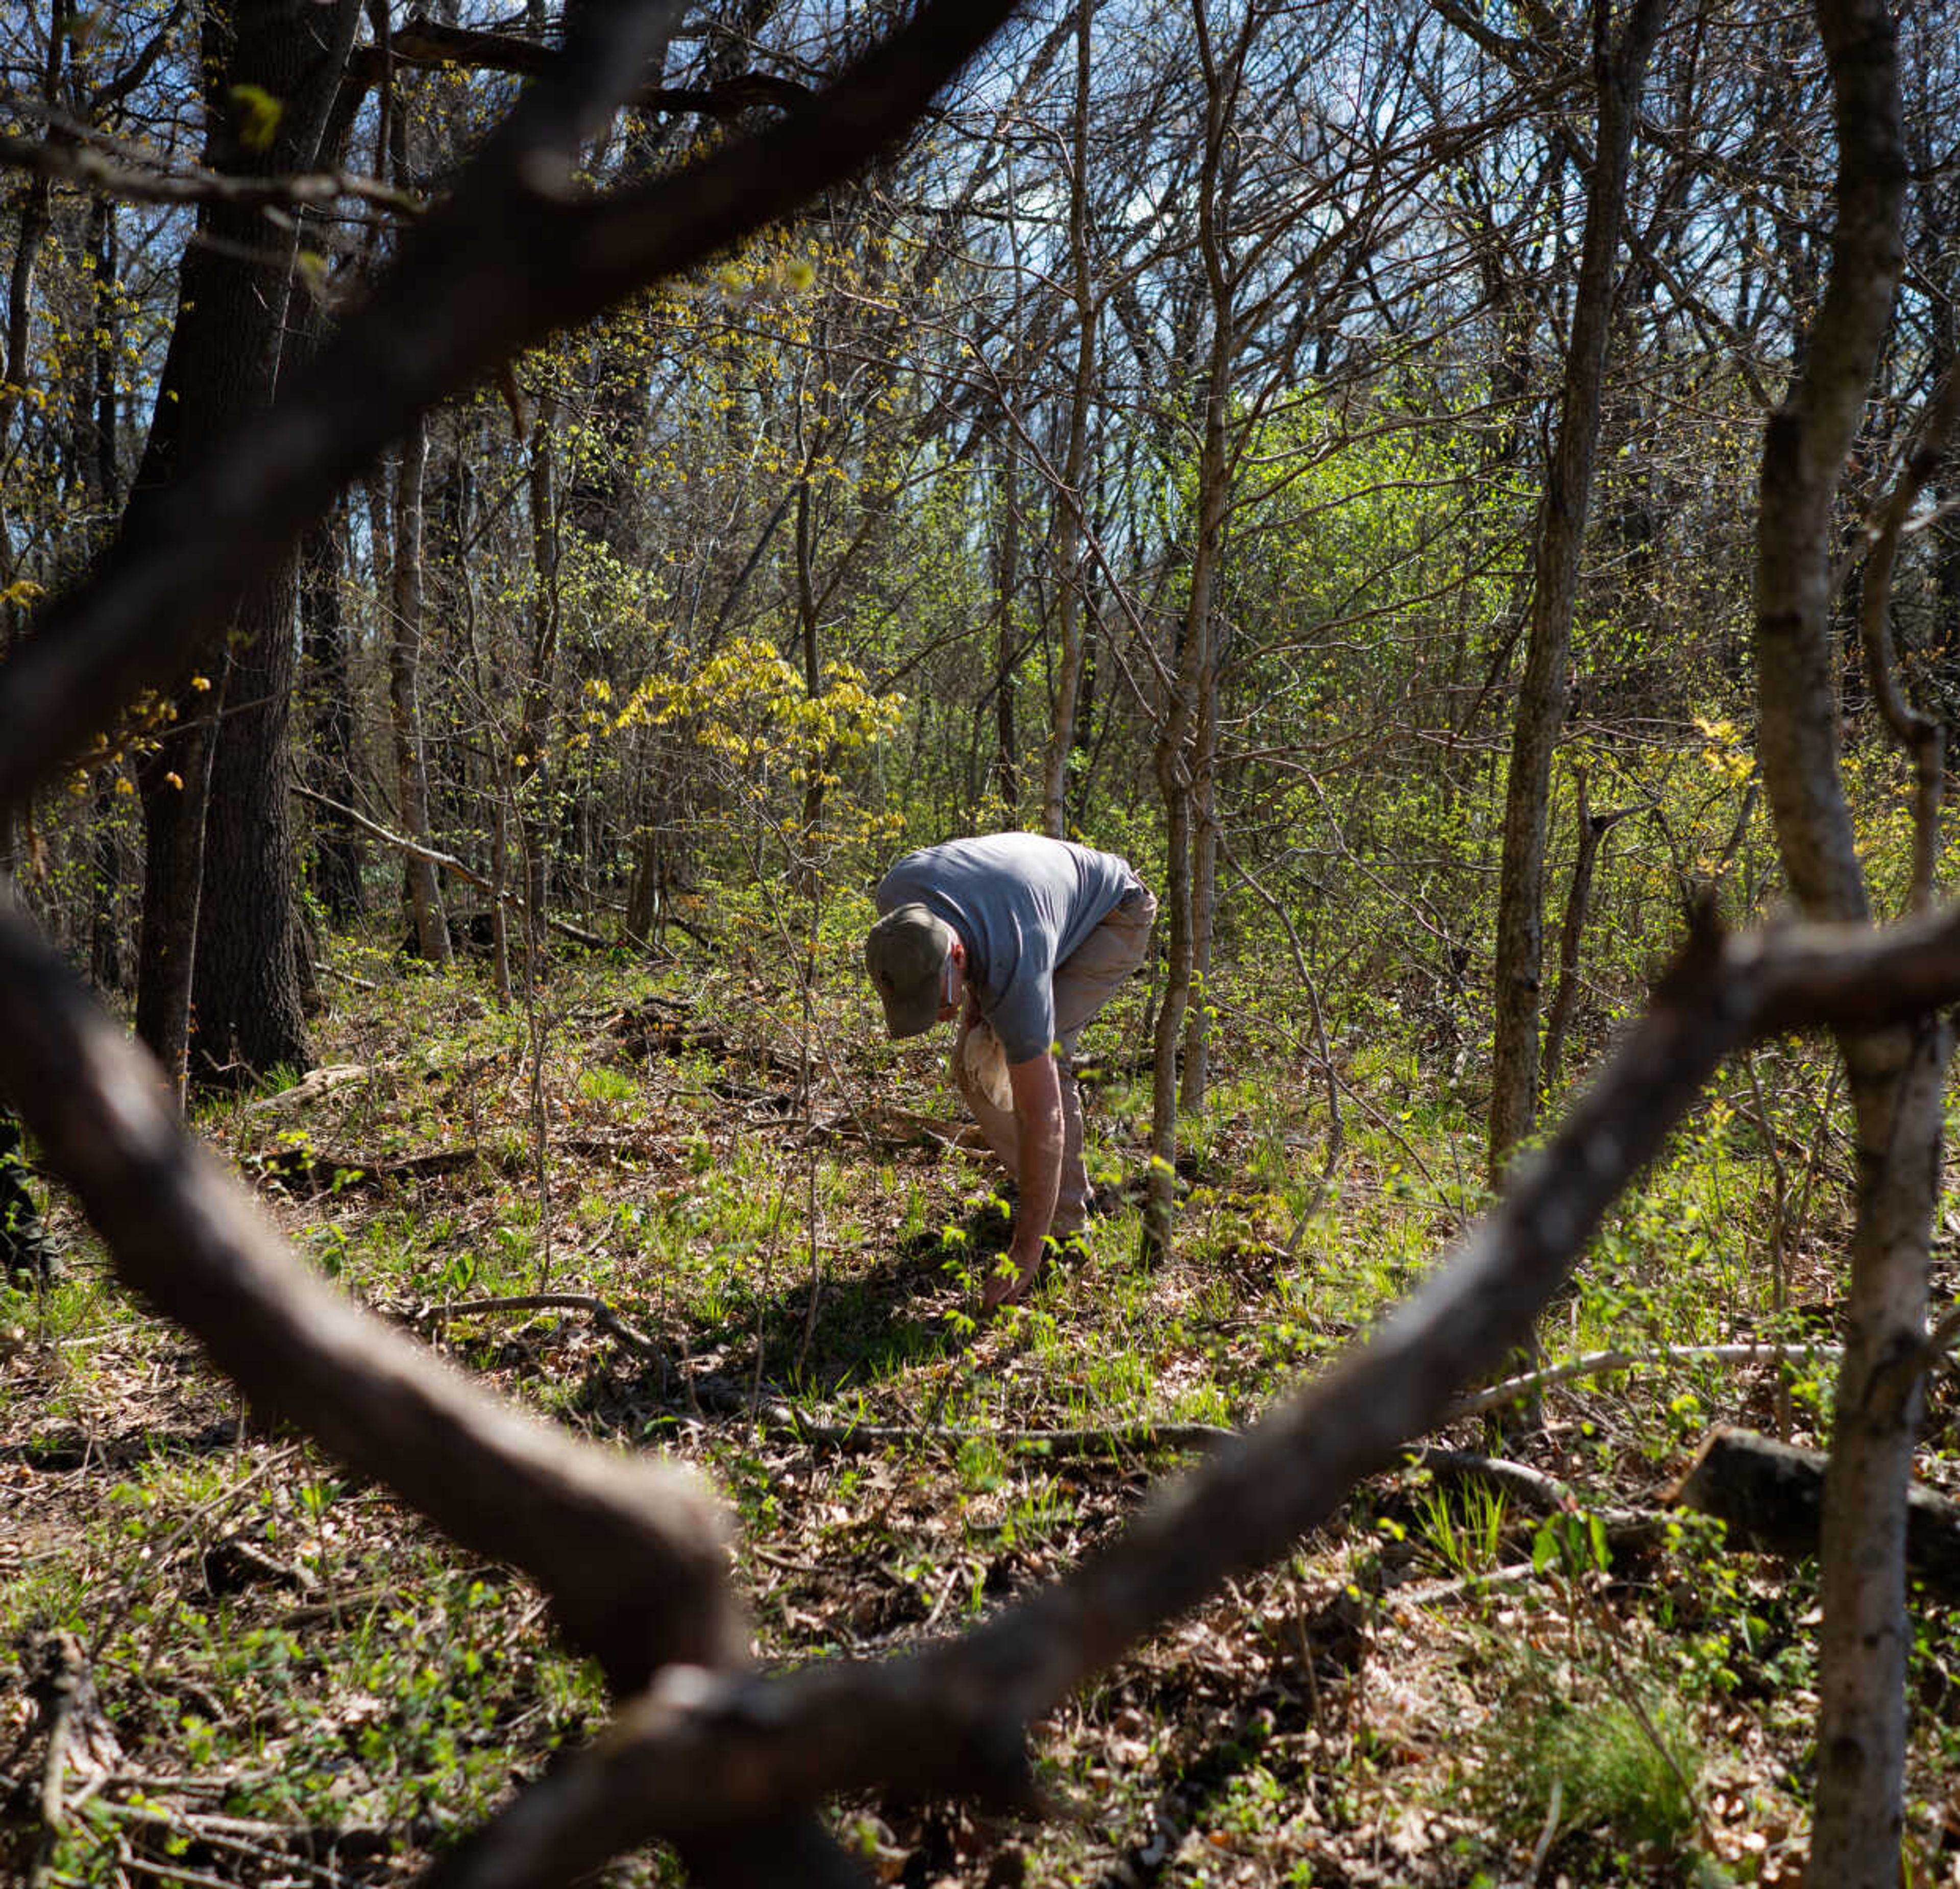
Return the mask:
[[[1729,1540],[1762,1554],[1815,1554],[1825,1499],[1823,1450],[1754,1430],[1711,1430],[1672,1501],[1729,1525]],[[1960,1595],[1960,1503],[1923,1483],[1907,1491],[1905,1566],[1935,1593]]]

